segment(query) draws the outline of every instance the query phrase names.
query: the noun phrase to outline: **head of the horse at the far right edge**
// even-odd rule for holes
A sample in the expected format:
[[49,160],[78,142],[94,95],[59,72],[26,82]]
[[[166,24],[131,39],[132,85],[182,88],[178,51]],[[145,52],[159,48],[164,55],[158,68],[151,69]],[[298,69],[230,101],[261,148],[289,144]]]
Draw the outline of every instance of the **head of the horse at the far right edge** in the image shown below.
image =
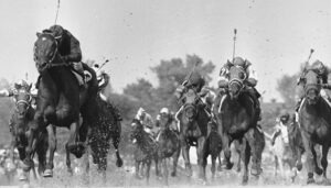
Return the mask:
[[308,69],[301,81],[303,82],[305,97],[308,103],[316,104],[320,98],[321,90],[319,75],[314,70]]

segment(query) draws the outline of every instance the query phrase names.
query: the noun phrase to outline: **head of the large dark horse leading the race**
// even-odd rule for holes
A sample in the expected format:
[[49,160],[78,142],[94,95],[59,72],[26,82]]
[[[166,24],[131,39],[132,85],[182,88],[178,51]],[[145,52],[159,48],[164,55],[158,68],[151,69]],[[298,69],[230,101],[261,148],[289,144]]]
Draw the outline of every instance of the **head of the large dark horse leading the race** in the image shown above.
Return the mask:
[[36,33],[34,43],[34,62],[39,73],[51,68],[58,57],[57,41],[51,33]]

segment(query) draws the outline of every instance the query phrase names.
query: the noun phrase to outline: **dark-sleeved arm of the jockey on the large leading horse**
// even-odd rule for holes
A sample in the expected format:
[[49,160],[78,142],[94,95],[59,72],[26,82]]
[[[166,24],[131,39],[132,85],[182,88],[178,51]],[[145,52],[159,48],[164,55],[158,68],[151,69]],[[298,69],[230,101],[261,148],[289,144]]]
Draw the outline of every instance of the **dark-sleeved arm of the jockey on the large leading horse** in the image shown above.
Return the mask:
[[71,47],[71,53],[70,55],[64,56],[65,62],[81,62],[82,60],[82,51],[81,51],[81,45],[79,41],[72,35],[68,31],[66,32],[67,37],[70,38],[70,47]]

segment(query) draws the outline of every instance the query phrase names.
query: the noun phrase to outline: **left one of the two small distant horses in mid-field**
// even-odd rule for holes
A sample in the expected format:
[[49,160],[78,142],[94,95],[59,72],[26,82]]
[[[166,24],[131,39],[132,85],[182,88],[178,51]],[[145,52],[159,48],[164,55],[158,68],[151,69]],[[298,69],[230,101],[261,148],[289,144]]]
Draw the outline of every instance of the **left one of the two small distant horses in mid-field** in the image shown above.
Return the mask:
[[149,184],[150,166],[152,161],[156,162],[156,174],[159,175],[158,167],[158,143],[149,135],[139,120],[134,119],[131,123],[132,133],[131,141],[135,144],[135,162],[136,162],[136,177],[139,176],[140,165],[146,165],[146,181]]

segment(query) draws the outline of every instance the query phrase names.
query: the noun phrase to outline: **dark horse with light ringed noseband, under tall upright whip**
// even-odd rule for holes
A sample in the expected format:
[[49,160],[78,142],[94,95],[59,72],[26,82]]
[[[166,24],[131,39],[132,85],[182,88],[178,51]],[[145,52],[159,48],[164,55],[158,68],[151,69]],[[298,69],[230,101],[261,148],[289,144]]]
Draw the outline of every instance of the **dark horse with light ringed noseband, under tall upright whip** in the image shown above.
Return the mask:
[[[222,137],[223,150],[225,156],[225,166],[231,169],[233,163],[231,163],[229,145],[234,140],[247,140],[252,150],[252,169],[253,175],[259,174],[259,167],[257,166],[257,148],[254,144],[254,129],[257,126],[257,115],[254,101],[252,97],[245,91],[246,73],[237,66],[229,68],[229,82],[228,93],[217,95],[213,112],[216,114],[216,121],[218,123],[218,133]],[[243,142],[243,141],[241,141]],[[243,148],[246,151],[246,148]],[[245,169],[249,163],[250,153],[245,153]],[[247,172],[244,173],[243,184],[248,181]]]

